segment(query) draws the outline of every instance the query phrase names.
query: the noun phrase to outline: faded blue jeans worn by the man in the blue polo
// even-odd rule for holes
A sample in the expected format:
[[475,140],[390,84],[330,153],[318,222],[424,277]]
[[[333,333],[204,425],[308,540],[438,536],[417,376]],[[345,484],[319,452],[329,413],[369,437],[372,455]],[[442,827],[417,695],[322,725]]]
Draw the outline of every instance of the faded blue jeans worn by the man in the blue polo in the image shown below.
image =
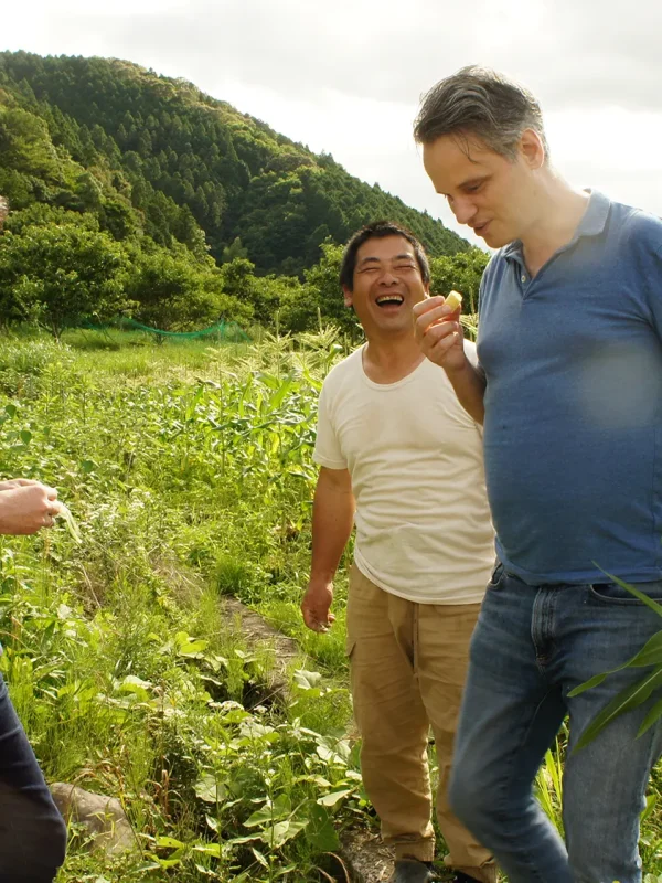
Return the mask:
[[[662,582],[639,588],[662,598]],[[662,753],[662,725],[641,738],[637,732],[660,696],[573,754],[595,715],[647,670],[568,693],[626,662],[661,629],[662,619],[617,585],[528,586],[495,568],[471,641],[449,796],[510,883],[641,883],[639,813]],[[564,843],[533,783],[566,714]]]

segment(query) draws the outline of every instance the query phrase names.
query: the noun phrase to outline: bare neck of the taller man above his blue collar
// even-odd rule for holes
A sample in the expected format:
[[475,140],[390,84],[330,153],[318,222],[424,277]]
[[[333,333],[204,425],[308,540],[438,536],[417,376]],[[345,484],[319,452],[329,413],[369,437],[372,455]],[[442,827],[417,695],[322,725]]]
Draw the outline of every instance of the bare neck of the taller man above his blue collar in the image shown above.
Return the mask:
[[543,180],[536,196],[536,221],[522,236],[524,262],[532,276],[570,242],[588,200],[588,193],[574,190],[553,171]]

